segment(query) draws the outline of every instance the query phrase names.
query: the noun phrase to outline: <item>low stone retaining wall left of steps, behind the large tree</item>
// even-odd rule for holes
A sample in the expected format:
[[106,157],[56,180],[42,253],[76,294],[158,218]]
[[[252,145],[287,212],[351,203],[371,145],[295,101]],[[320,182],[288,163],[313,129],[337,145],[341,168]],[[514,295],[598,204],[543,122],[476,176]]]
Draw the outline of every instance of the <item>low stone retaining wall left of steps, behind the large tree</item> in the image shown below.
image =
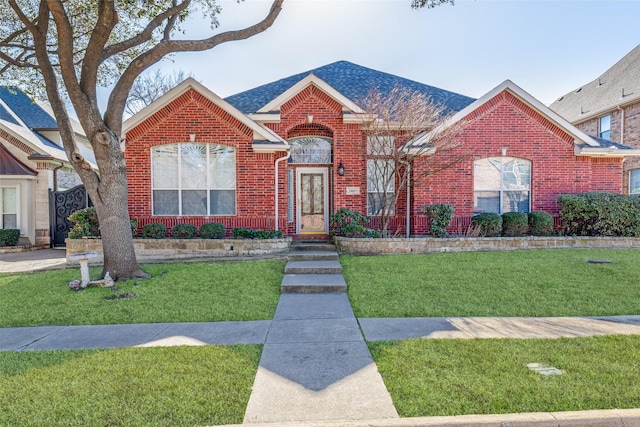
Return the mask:
[[[78,263],[72,255],[95,252],[90,262],[102,262],[102,240],[67,239],[67,262]],[[286,254],[291,238],[268,240],[240,239],[134,239],[138,261],[158,259],[222,258]]]

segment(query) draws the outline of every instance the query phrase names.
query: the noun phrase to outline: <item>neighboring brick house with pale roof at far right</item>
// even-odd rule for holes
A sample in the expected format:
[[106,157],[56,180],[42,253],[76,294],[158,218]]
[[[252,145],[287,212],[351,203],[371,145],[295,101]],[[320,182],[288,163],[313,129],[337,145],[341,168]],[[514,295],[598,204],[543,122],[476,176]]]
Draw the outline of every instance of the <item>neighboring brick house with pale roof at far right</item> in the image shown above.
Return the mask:
[[[640,45],[549,108],[589,135],[640,149]],[[640,194],[640,158],[626,159],[623,170],[623,192]]]

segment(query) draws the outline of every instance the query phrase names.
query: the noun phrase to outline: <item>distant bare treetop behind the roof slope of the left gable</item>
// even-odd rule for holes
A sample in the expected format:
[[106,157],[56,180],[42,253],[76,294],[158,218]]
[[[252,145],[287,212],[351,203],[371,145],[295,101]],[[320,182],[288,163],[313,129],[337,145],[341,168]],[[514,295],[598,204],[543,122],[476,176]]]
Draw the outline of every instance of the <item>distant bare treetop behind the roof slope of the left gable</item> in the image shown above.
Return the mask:
[[174,71],[172,74],[163,74],[160,70],[156,70],[151,74],[139,75],[129,91],[125,115],[133,116],[187,77],[193,77],[193,75],[185,74],[182,70]]

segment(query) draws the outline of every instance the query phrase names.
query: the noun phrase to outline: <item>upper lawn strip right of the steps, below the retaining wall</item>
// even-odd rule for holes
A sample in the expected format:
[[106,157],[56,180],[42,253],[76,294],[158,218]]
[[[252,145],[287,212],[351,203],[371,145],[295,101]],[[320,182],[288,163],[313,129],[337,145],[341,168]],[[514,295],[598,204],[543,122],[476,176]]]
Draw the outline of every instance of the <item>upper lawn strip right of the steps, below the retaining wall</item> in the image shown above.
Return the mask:
[[340,258],[357,317],[640,314],[638,260],[638,249]]

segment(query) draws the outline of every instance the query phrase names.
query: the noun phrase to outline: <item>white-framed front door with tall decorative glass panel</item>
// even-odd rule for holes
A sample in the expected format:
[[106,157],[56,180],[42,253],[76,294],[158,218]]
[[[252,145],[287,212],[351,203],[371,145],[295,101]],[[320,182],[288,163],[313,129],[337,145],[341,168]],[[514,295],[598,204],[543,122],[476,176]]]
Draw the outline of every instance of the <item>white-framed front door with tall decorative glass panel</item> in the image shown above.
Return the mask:
[[327,176],[327,168],[296,169],[298,234],[327,234],[329,231]]

